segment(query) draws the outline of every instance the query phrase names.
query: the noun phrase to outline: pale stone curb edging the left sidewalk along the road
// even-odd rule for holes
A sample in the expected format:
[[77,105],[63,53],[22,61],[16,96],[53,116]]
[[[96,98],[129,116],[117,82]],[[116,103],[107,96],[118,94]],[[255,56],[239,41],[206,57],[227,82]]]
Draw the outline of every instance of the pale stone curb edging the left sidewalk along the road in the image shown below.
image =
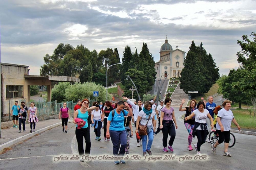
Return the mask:
[[[72,121],[73,121],[73,119],[72,120],[68,120],[68,123],[72,122]],[[7,148],[7,147],[10,147],[10,146],[12,146],[12,145],[14,145],[16,143],[22,142],[25,139],[31,138],[31,137],[33,137],[33,136],[35,136],[37,134],[45,132],[45,131],[47,131],[47,130],[49,130],[51,128],[57,127],[59,125],[61,125],[61,122],[49,125],[47,127],[39,129],[39,130],[37,130],[37,131],[35,131],[33,133],[30,133],[30,134],[27,134],[27,135],[24,135],[24,136],[20,136],[19,138],[16,138],[16,139],[10,140],[9,142],[3,143],[3,144],[0,145],[0,151],[2,151],[4,148]]]

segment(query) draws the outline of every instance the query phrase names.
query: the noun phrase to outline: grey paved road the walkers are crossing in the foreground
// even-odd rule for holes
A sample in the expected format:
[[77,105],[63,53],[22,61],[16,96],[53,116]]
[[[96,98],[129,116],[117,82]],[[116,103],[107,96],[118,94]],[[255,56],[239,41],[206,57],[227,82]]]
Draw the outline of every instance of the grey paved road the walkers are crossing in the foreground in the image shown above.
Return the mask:
[[[177,111],[176,117],[183,112]],[[78,160],[64,160],[64,157],[77,155],[77,144],[75,140],[75,127],[69,125],[68,134],[62,132],[62,128],[52,128],[22,143],[12,146],[12,150],[0,155],[0,169],[255,169],[256,158],[256,136],[235,134],[237,142],[233,148],[229,148],[232,157],[222,156],[223,144],[217,148],[217,153],[211,153],[209,143],[203,144],[201,152],[206,159],[195,160],[195,151],[187,150],[187,131],[181,119],[177,119],[178,129],[174,140],[174,152],[164,153],[162,151],[162,134],[155,136],[151,151],[154,157],[147,155],[146,160],[142,157],[142,147],[136,147],[135,137],[131,139],[131,150],[129,159],[125,164],[114,165],[113,161],[103,160],[103,155],[112,156],[112,143],[94,140],[95,135],[91,130],[91,157],[96,159],[91,162],[80,163]],[[134,127],[133,127],[134,128]],[[102,130],[103,132],[103,130]],[[196,143],[196,138],[192,143]],[[48,146],[47,146],[48,145]],[[62,160],[54,161],[55,157],[63,155]],[[136,156],[138,155],[138,157]],[[182,157],[192,158],[183,160]],[[161,160],[150,160],[162,157]],[[140,158],[141,160],[136,160]],[[169,160],[164,160],[169,158]],[[55,158],[57,160],[57,158]],[[183,160],[183,161],[182,161]]]

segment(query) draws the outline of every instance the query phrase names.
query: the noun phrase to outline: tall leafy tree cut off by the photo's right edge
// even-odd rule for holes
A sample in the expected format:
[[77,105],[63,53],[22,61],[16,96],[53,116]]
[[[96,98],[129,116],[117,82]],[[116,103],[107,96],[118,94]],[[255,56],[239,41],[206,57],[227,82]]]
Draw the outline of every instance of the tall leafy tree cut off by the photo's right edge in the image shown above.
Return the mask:
[[242,36],[242,40],[237,40],[241,46],[241,51],[237,52],[237,61],[244,69],[240,75],[240,81],[234,83],[236,88],[240,88],[247,93],[248,97],[256,96],[256,33],[251,33],[251,39],[247,35]]

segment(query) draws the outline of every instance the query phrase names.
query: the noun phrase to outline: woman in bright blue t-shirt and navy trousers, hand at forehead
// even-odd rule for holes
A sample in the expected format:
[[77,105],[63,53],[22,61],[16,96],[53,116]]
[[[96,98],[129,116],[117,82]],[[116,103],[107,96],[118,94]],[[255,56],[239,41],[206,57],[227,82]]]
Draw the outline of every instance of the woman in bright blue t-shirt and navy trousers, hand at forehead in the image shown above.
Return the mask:
[[[129,108],[129,112],[123,110],[124,106]],[[124,104],[123,101],[118,101],[117,108],[114,109],[114,116],[112,115],[112,111],[109,113],[106,133],[107,138],[111,137],[113,154],[115,156],[123,156],[125,153],[127,140],[124,128],[124,116],[132,116],[132,109],[129,107],[128,103]],[[121,147],[119,143],[121,144]],[[124,160],[120,160],[120,162],[125,163]],[[119,164],[119,160],[115,160],[114,164]]]

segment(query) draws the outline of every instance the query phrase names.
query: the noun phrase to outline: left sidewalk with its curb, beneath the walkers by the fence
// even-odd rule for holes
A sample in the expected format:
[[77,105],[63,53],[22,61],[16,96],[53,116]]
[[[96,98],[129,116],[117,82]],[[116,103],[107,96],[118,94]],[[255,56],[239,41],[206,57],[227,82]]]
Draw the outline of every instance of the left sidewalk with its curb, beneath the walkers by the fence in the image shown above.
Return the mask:
[[[71,118],[68,122],[72,122],[73,119]],[[18,128],[7,128],[1,130],[1,137],[0,138],[0,151],[4,148],[10,147],[16,143],[21,142],[22,140],[28,139],[32,136],[35,136],[41,132],[47,131],[51,128],[57,127],[61,125],[61,120],[59,119],[49,119],[38,121],[35,125],[35,132],[30,133],[30,124],[26,124],[26,132],[23,132],[23,127],[21,126],[22,132],[19,133]]]

